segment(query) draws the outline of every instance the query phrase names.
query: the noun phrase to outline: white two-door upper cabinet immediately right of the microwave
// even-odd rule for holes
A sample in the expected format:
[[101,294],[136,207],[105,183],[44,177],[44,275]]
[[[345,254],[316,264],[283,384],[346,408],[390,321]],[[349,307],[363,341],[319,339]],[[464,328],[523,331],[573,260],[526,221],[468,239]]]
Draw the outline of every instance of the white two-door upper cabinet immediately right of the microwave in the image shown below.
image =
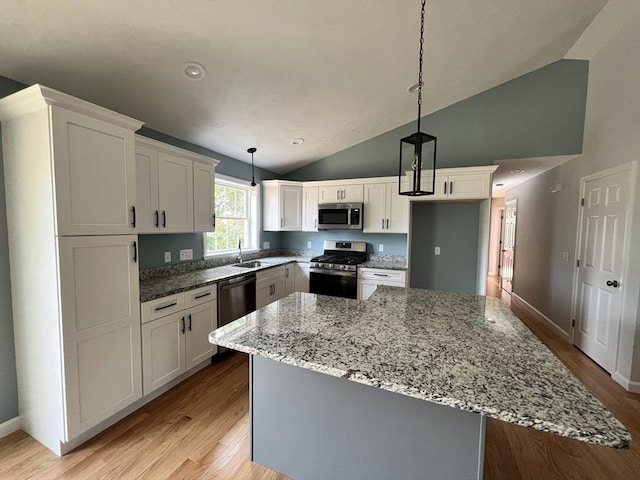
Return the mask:
[[398,195],[398,183],[374,183],[364,186],[365,233],[407,233],[409,199]]

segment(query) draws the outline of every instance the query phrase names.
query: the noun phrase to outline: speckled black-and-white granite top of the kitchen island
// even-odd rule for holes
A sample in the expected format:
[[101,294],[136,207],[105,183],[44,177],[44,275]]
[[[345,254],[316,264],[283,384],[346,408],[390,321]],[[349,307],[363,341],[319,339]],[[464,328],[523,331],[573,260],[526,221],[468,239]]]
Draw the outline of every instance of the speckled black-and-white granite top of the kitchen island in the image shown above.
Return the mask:
[[584,442],[624,426],[497,299],[378,287],[365,301],[294,293],[211,343]]

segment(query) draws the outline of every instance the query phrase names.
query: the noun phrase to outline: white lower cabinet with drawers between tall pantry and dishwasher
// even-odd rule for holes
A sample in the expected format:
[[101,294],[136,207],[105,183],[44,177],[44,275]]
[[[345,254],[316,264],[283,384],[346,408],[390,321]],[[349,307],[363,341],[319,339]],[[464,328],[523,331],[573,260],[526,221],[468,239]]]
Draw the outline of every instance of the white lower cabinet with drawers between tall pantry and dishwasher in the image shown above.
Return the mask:
[[217,353],[216,285],[142,304],[142,379],[145,395]]

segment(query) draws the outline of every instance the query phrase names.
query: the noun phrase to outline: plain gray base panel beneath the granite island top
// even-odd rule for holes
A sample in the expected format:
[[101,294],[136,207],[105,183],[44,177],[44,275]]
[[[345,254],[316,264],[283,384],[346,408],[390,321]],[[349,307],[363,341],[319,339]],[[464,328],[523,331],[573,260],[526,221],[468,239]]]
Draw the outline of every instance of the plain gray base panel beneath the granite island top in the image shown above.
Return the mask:
[[485,417],[256,355],[251,460],[296,480],[481,479]]

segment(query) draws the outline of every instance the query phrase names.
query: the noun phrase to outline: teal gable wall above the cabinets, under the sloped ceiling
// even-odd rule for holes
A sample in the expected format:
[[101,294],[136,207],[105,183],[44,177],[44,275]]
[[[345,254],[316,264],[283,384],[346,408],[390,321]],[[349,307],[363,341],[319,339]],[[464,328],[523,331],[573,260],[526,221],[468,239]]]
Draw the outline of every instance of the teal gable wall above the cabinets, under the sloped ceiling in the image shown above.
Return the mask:
[[[582,151],[589,64],[560,60],[423,117],[438,137],[439,167]],[[363,119],[366,121],[366,119]],[[400,139],[413,121],[286,175],[333,180],[398,174]]]

